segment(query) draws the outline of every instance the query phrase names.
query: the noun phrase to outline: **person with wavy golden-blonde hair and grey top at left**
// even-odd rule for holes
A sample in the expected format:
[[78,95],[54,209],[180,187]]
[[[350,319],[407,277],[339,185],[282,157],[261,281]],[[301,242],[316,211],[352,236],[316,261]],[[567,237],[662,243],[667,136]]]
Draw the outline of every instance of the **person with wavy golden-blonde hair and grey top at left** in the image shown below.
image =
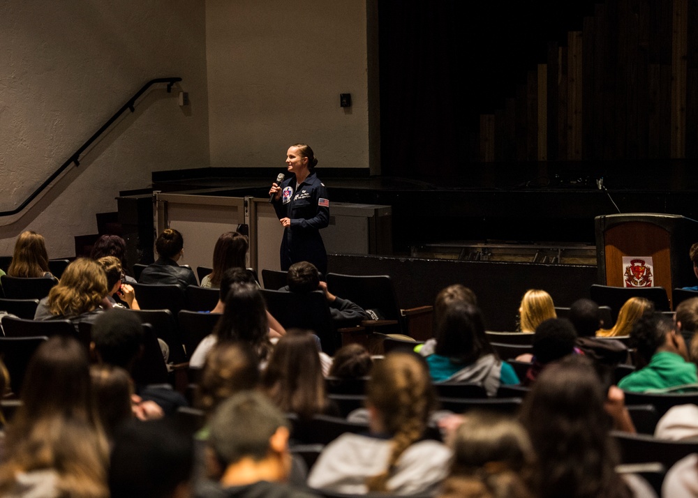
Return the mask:
[[39,301],[34,319],[93,323],[103,312],[107,277],[97,262],[80,257],[68,264],[58,285]]

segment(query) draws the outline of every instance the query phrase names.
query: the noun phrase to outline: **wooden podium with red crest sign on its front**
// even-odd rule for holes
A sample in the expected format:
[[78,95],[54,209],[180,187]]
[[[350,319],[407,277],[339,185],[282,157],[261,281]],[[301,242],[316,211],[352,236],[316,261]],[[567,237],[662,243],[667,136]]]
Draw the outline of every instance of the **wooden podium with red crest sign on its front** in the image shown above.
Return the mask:
[[[698,242],[698,221],[675,214],[628,213],[597,216],[595,226],[600,284],[628,287],[625,282],[633,277],[628,266],[642,266],[651,258],[652,285],[666,289],[669,303],[674,287],[697,285],[688,251]],[[642,285],[641,271],[637,275]]]

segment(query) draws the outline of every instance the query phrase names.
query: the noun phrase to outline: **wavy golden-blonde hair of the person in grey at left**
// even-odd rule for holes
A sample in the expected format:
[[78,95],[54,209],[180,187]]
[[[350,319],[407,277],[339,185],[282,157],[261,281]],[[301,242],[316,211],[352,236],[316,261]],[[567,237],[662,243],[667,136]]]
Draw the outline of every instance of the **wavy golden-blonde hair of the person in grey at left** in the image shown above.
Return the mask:
[[47,304],[52,315],[75,317],[98,308],[108,291],[102,267],[81,257],[68,265],[49,292]]

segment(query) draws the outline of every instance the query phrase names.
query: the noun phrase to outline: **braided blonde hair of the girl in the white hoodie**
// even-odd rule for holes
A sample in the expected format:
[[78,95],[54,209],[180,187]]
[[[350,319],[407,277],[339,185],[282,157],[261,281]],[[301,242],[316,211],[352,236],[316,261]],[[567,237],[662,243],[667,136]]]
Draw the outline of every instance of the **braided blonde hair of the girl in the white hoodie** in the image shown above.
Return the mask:
[[385,492],[400,455],[422,436],[429,413],[436,407],[424,361],[410,353],[387,354],[373,365],[366,404],[377,410],[383,427],[393,436],[385,470],[366,479],[369,492]]

